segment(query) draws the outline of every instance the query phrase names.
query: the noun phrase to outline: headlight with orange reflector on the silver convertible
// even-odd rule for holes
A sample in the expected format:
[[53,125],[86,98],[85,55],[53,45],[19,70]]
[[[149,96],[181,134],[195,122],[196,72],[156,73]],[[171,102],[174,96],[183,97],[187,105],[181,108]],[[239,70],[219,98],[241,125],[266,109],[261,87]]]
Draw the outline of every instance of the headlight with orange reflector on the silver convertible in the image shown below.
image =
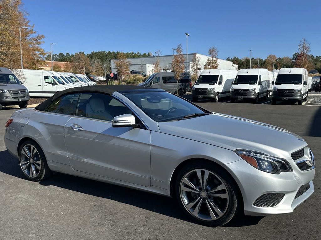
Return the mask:
[[243,149],[237,149],[234,150],[234,152],[248,164],[263,172],[273,174],[279,174],[280,172],[292,172],[291,165],[285,159]]

